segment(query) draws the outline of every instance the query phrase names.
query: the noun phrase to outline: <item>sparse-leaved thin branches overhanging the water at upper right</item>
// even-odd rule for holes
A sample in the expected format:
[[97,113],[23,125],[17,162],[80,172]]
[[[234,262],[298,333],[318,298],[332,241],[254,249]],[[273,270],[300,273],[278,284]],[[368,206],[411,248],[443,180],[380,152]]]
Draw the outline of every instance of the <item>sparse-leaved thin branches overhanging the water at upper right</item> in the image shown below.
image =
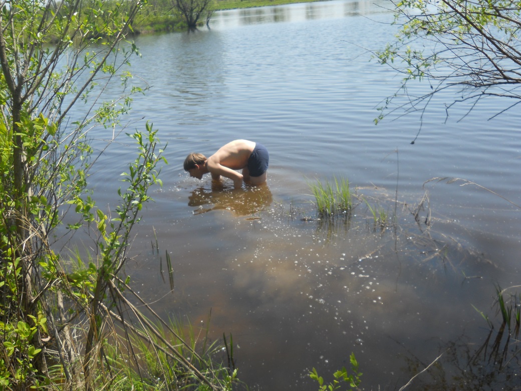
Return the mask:
[[[511,0],[402,0],[395,4],[396,40],[377,52],[380,63],[404,75],[403,93],[387,99],[379,118],[395,110],[425,112],[433,95],[451,91],[451,106],[489,97],[511,98],[496,116],[521,103],[521,3]],[[411,80],[427,93],[408,93]],[[396,99],[406,95],[405,101]],[[396,104],[393,106],[393,104]]]

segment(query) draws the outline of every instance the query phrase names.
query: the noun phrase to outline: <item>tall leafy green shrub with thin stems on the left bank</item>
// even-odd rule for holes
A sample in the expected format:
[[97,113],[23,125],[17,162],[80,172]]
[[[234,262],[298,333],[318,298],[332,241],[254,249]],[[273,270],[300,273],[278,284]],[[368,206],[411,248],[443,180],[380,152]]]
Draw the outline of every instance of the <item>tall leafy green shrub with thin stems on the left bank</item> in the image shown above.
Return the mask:
[[[129,287],[120,277],[147,190],[160,183],[156,131],[147,124],[129,135],[137,157],[122,174],[127,188],[118,190],[111,212],[98,209],[87,190],[96,159],[90,133],[122,130],[119,117],[140,91],[126,87],[137,48],[125,34],[142,4],[0,0],[0,389],[108,384],[117,375],[112,349],[119,348],[107,344],[112,322],[150,346],[151,335],[160,334],[122,295]],[[121,95],[104,100],[115,79],[123,81]],[[82,114],[73,115],[82,102]],[[69,230],[84,226],[94,239],[91,254],[72,260],[53,248],[69,206],[78,216]],[[212,371],[197,371],[176,349],[166,350],[169,360],[216,388],[206,379]]]

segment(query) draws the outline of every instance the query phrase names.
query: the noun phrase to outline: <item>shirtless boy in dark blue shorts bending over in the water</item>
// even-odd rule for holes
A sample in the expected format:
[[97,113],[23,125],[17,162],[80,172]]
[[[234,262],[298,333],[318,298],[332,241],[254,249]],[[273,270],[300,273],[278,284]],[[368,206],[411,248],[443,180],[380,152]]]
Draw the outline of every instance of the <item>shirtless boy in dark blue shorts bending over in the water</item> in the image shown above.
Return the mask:
[[[201,179],[204,174],[212,174],[213,179],[224,176],[233,180],[235,189],[242,187],[242,181],[252,185],[266,182],[269,154],[262,144],[248,140],[235,140],[221,146],[212,156],[191,153],[184,160],[184,170],[191,177]],[[242,174],[235,170],[242,169]]]

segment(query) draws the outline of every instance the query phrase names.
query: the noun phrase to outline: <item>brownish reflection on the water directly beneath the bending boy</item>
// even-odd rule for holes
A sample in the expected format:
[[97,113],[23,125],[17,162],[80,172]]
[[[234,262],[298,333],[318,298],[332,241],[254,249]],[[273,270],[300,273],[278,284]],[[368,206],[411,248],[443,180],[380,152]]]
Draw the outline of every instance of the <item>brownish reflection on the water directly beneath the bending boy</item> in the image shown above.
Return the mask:
[[197,206],[194,214],[225,209],[238,216],[255,215],[273,201],[267,185],[246,186],[246,189],[232,189],[220,182],[213,182],[212,189],[200,187],[192,191],[188,206]]

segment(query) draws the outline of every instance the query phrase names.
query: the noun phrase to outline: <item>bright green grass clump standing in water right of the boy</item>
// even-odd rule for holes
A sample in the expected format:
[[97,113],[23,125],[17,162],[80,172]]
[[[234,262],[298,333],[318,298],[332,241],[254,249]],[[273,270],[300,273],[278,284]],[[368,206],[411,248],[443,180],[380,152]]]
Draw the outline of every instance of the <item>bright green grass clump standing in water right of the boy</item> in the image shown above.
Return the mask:
[[315,206],[320,217],[351,216],[353,201],[348,179],[333,177],[332,183],[326,180],[322,184],[318,181],[309,184],[309,188],[315,196]]

